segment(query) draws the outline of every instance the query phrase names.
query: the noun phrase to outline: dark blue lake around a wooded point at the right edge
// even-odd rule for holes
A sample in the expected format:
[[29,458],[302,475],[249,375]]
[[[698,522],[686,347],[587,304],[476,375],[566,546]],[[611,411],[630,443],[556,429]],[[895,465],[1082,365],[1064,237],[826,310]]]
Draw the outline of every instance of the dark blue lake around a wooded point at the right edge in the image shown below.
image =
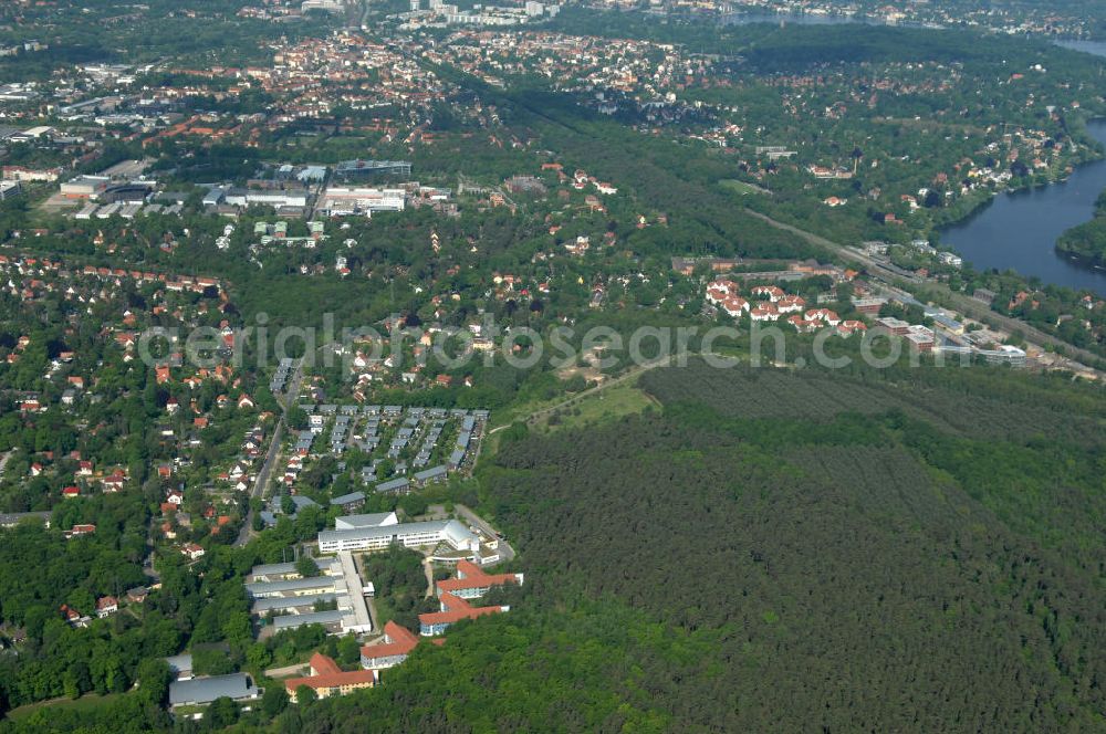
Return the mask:
[[[1088,124],[1087,132],[1106,144],[1106,122]],[[1091,220],[1104,189],[1106,160],[1096,160],[1076,168],[1066,181],[1000,193],[972,217],[945,229],[941,242],[977,269],[1011,269],[1046,283],[1106,295],[1106,271],[1077,264],[1055,250],[1064,230]]]

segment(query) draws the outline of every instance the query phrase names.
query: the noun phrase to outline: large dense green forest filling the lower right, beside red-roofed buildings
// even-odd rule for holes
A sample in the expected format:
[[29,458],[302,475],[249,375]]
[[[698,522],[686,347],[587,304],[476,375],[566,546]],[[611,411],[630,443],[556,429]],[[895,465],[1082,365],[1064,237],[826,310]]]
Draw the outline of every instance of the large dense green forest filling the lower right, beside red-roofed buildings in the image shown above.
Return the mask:
[[666,368],[511,431],[512,612],[281,731],[1100,730],[1100,391],[910,377]]

